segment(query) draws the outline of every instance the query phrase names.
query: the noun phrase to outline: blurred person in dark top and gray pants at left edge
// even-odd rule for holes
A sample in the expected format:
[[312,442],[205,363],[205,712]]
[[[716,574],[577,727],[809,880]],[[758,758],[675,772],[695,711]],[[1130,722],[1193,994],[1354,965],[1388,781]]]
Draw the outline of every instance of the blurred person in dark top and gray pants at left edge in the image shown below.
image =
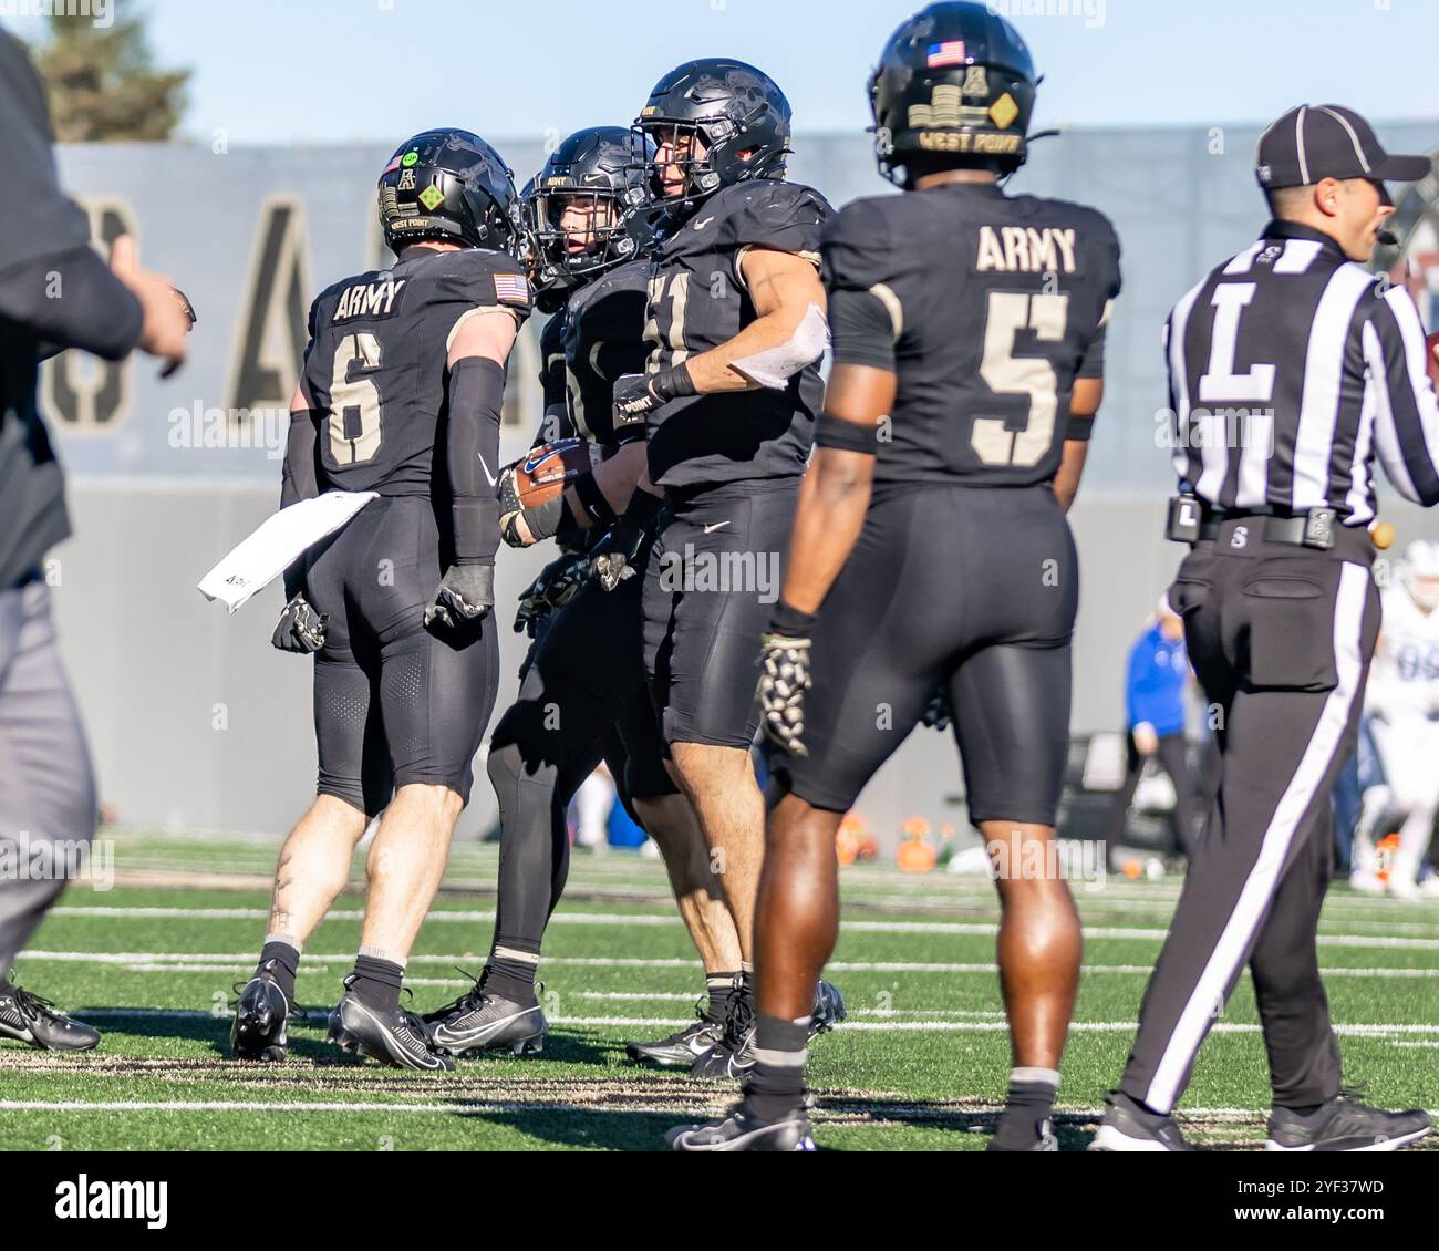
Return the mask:
[[[0,30],[0,1038],[85,1051],[99,1032],[7,982],[95,834],[95,776],[60,664],[46,553],[69,537],[65,475],[36,407],[39,364],[68,347],[184,360],[194,315],[134,242],[109,265],[65,196],[50,115],[24,48]],[[36,872],[36,865],[43,865]]]

